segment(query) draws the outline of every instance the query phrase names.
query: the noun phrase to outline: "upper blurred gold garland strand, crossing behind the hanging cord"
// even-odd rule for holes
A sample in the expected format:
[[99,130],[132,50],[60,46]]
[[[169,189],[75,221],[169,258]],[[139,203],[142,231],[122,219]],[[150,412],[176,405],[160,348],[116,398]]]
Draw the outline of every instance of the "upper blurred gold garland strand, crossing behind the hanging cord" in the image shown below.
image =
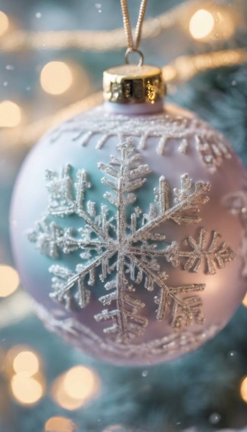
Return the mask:
[[[168,12],[155,18],[145,20],[142,29],[142,39],[151,39],[160,35],[164,30],[173,27],[184,20],[188,11],[193,8],[212,7],[211,1],[190,0],[182,3]],[[107,51],[125,48],[124,29],[111,31],[49,31],[25,32],[15,31],[0,39],[0,50],[11,52],[20,49],[80,49],[90,51]]]

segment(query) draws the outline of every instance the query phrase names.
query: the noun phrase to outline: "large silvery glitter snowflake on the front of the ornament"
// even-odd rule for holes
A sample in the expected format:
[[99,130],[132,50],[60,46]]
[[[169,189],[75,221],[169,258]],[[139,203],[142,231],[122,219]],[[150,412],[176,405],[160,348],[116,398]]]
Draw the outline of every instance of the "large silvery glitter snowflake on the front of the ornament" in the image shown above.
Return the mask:
[[90,287],[99,277],[109,293],[99,298],[105,309],[94,318],[111,320],[112,324],[104,332],[126,343],[141,335],[148,324],[145,316],[137,314],[145,304],[133,296],[141,283],[148,291],[157,291],[157,320],[167,317],[177,329],[204,321],[201,298],[186,294],[204,290],[205,284],[170,286],[168,275],[161,271],[162,260],[176,267],[180,259],[186,258],[184,268],[196,272],[205,260],[208,273],[214,274],[216,266],[224,267],[234,254],[225,243],[217,247],[219,235],[214,232],[207,248],[205,230],[200,231],[198,243],[192,237],[187,239],[192,251],[181,250],[176,241],[165,243],[165,235],[157,233],[157,229],[168,220],[176,224],[199,223],[199,205],[207,202],[210,185],[199,181],[193,187],[188,174],[184,174],[180,189],[174,189],[171,203],[170,187],[161,176],[159,187],[154,190],[154,202],[148,213],[143,213],[133,206],[137,199],[133,191],[144,185],[150,169],[141,164],[132,139],[121,144],[119,151],[120,157],[111,156],[110,163],[98,163],[98,168],[105,173],[101,181],[112,191],[106,192],[104,198],[116,207],[115,213],[105,204],[101,204],[99,214],[94,202],[88,200],[85,205],[85,192],[91,187],[87,174],[83,169],[78,170],[74,183],[71,167],[66,165],[60,174],[46,171],[48,214],[58,217],[76,214],[84,221],[83,227],[78,231],[64,229],[48,216],[36,224],[28,237],[41,253],[53,258],[60,252],[80,251],[81,263],[75,271],[62,265],[50,266],[49,272],[53,274],[50,296],[65,303],[68,309],[76,304],[84,308],[90,301]]

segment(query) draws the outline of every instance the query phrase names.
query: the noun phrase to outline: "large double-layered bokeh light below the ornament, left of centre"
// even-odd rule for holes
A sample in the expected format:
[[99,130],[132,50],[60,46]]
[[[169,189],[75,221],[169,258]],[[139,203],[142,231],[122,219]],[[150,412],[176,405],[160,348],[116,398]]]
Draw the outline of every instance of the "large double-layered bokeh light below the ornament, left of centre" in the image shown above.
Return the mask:
[[99,378],[84,366],[75,366],[59,376],[52,386],[52,397],[61,407],[74,410],[95,396],[99,391]]

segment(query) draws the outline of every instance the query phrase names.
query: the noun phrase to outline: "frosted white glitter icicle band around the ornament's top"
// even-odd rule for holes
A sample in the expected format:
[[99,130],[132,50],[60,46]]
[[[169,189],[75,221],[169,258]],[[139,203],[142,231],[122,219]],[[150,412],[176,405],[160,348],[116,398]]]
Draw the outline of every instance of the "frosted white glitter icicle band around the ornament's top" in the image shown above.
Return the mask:
[[[170,114],[123,116],[104,113],[102,109],[96,112],[76,116],[55,128],[50,135],[51,142],[55,142],[64,132],[72,132],[73,140],[80,140],[85,146],[93,135],[100,135],[96,149],[100,149],[108,138],[118,136],[123,142],[124,137],[140,138],[138,148],[146,148],[150,137],[159,138],[156,151],[164,155],[170,140],[178,141],[178,151],[185,154],[189,147],[189,139],[195,137],[193,145],[211,172],[214,172],[223,162],[230,159],[231,153],[226,141],[220,133],[197,117],[172,116]],[[131,133],[130,133],[131,132]],[[193,140],[193,141],[194,141]]]

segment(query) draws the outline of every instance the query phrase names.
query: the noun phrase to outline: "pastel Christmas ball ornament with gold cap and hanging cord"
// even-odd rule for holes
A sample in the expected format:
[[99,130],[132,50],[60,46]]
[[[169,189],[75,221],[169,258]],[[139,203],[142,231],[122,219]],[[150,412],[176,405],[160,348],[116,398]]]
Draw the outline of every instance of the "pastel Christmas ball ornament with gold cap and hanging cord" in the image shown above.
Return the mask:
[[163,108],[159,68],[104,73],[104,105],[49,132],[16,182],[11,236],[36,310],[85,353],[152,364],[199,347],[241,302],[241,220],[226,196],[246,173],[223,136]]

